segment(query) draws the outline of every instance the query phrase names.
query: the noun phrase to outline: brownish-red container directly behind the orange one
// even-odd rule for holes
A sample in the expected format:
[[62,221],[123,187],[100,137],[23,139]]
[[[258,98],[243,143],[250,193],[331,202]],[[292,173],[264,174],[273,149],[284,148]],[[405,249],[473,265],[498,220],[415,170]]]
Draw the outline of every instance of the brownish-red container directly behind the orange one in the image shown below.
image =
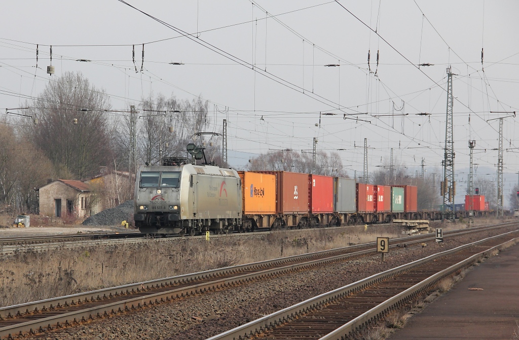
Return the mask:
[[308,212],[308,174],[286,171],[258,171],[276,175],[276,213],[293,214]]

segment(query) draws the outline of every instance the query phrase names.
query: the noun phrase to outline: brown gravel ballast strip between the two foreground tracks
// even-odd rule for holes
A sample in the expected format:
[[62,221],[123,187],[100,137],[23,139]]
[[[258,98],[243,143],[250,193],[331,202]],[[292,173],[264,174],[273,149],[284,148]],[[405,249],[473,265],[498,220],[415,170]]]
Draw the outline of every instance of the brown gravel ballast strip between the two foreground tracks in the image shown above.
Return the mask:
[[362,257],[177,299],[54,331],[38,338],[204,339],[372,274],[514,229],[503,228],[446,238],[443,243],[428,242],[425,247],[411,245],[391,250],[384,263],[381,263],[379,255]]

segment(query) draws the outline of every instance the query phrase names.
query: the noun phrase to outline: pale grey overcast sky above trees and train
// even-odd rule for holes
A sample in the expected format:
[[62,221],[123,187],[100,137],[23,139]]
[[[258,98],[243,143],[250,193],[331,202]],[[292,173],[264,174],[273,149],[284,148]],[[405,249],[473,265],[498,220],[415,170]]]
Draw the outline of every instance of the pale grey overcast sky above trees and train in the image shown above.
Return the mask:
[[[519,111],[519,2],[340,1],[346,9],[313,0],[128,3],[165,24],[117,0],[4,2],[0,112],[43,90],[53,45],[52,77],[82,72],[106,90],[114,109],[150,94],[209,100],[211,129],[228,119],[236,166],[258,153],[309,151],[317,137],[320,150],[344,149],[338,152],[348,173],[361,175],[367,138],[370,171],[387,163],[393,148],[409,174],[424,158],[439,178],[450,65],[458,188],[466,186],[469,139],[479,149],[476,174],[496,177],[497,151],[490,149],[498,147],[499,124],[486,120],[507,115],[490,111]],[[322,116],[319,126],[319,112],[334,115]],[[517,120],[504,124],[509,190],[519,165]]]

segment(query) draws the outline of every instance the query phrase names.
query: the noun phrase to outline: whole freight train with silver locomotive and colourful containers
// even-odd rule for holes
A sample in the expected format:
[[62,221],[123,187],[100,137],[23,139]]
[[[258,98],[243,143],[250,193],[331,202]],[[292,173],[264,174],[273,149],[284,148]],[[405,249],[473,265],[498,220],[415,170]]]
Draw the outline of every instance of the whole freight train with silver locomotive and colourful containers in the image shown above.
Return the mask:
[[[442,218],[438,211],[418,211],[417,198],[415,186],[379,186],[283,171],[237,172],[170,160],[161,166],[139,168],[134,221],[142,233],[193,236],[204,231]],[[463,211],[455,214],[467,215]]]

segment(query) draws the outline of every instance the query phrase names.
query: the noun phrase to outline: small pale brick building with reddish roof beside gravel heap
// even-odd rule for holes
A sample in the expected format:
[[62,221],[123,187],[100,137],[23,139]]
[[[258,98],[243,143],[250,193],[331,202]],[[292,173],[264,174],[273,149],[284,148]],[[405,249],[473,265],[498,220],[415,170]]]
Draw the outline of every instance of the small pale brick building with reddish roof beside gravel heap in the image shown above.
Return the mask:
[[80,180],[57,179],[36,190],[39,191],[40,215],[85,217],[90,214],[90,189]]

